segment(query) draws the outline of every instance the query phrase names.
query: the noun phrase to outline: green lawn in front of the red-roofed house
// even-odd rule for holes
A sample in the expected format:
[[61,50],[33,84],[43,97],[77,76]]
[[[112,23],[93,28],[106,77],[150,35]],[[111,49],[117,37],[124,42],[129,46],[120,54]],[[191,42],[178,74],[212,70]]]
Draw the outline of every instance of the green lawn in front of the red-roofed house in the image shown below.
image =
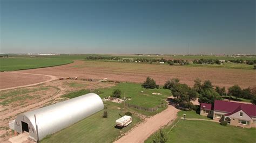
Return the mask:
[[[203,120],[179,120],[164,128],[168,142],[255,142],[256,128],[239,128]],[[145,142],[152,142],[152,135]]]

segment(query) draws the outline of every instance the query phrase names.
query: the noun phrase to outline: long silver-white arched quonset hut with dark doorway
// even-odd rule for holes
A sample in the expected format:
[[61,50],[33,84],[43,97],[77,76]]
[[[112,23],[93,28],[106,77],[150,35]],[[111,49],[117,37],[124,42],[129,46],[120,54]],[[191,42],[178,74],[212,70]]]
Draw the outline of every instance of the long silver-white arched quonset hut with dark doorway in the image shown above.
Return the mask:
[[42,140],[46,135],[60,131],[103,108],[102,99],[90,93],[18,115],[15,130],[19,133],[29,132],[29,137],[35,141],[38,138]]

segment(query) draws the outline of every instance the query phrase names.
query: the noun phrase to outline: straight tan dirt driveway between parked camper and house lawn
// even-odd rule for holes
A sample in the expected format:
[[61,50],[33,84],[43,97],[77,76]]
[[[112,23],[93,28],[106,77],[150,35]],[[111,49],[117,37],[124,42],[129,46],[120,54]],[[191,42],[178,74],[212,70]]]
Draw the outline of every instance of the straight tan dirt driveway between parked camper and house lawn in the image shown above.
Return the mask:
[[118,142],[144,142],[151,134],[156,132],[161,126],[164,126],[177,118],[179,110],[169,105],[168,108],[157,115],[147,118],[143,123],[115,141]]

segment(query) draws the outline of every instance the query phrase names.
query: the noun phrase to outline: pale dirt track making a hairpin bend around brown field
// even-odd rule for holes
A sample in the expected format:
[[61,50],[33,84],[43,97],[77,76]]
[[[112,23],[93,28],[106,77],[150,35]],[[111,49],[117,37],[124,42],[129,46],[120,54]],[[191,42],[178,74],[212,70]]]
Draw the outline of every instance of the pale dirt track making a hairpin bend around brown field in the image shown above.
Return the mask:
[[[19,85],[19,86],[15,86],[15,87],[11,87],[11,88],[3,88],[3,89],[0,89],[0,91],[2,90],[9,90],[9,89],[15,89],[15,88],[24,88],[24,87],[30,87],[30,86],[34,86],[34,85],[38,85],[38,84],[42,84],[42,83],[45,83],[45,82],[50,82],[50,81],[54,81],[54,80],[57,80],[57,77],[56,76],[53,76],[53,75],[43,75],[43,74],[31,74],[31,73],[19,73],[17,71],[9,71],[9,72],[5,72],[7,74],[15,74],[15,75],[32,75],[33,78],[31,78],[30,80],[33,81],[33,82],[36,82],[37,80],[37,77],[42,77],[42,76],[46,76],[46,77],[43,77],[43,81],[38,81],[37,83],[32,83],[32,84],[26,84],[25,85]],[[2,79],[3,80],[3,79]],[[10,80],[10,79],[9,79]],[[20,82],[20,81],[17,81],[17,82]],[[3,83],[5,84],[8,84],[6,82],[3,81]],[[2,86],[1,86],[2,87]]]

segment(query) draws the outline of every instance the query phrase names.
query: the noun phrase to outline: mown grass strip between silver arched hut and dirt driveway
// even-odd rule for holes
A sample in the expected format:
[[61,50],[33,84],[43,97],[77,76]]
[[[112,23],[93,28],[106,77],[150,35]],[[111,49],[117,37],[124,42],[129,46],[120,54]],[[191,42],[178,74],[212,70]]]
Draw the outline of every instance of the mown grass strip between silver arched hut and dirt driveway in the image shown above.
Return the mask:
[[107,106],[108,117],[103,118],[103,111],[96,113],[78,123],[65,128],[51,136],[48,136],[41,142],[113,142],[119,137],[121,132],[127,132],[140,119],[132,116],[132,123],[125,128],[115,127],[115,121],[120,118],[119,114],[124,114],[116,106]]

